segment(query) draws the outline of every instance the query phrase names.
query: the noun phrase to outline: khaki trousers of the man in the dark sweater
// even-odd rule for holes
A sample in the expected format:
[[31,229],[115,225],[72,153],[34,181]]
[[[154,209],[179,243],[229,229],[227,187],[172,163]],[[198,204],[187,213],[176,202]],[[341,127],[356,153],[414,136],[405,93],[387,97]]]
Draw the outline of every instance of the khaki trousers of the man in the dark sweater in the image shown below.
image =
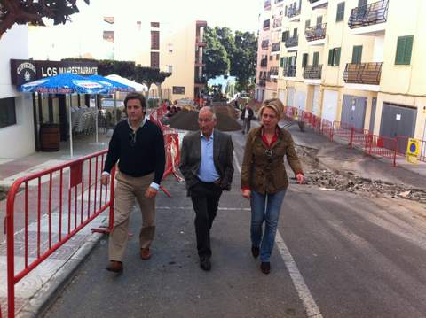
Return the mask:
[[149,247],[155,232],[155,197],[145,198],[145,191],[153,182],[154,173],[140,177],[118,172],[114,195],[114,228],[109,235],[109,260],[122,261],[129,236],[130,212],[138,200],[142,213],[142,229],[139,233],[140,248]]

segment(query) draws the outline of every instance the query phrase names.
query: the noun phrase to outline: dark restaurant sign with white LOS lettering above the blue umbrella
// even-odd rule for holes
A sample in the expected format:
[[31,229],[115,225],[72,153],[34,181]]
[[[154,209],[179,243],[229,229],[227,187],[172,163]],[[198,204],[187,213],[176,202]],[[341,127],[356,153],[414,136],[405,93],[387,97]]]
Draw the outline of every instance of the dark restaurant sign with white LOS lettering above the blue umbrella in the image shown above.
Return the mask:
[[98,63],[75,61],[36,61],[30,59],[11,59],[12,84],[20,86],[28,81],[62,73],[78,75],[98,74]]

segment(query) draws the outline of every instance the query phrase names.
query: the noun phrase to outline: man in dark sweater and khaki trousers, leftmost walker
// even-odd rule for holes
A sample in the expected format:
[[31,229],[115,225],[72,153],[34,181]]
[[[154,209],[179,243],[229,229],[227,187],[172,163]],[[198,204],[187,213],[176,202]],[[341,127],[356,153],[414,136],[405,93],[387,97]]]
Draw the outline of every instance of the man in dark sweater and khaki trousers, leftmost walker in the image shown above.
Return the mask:
[[109,236],[109,271],[122,272],[122,259],[128,239],[129,217],[135,198],[142,213],[139,234],[142,260],[151,257],[155,231],[155,196],[164,173],[165,154],[162,130],[145,119],[146,100],[130,93],[124,100],[128,119],[114,128],[109,142],[102,183],[109,182],[111,169],[118,161],[119,172],[114,199],[114,229]]

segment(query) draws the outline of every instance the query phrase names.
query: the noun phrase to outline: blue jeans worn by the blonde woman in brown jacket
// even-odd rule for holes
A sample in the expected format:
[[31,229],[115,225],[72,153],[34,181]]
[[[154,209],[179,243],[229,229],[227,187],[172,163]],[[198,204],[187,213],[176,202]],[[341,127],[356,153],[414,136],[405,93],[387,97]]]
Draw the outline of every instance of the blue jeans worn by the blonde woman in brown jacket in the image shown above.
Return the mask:
[[[260,194],[251,191],[251,244],[260,246],[260,260],[269,261],[271,257],[275,233],[277,232],[280,209],[286,190],[274,194]],[[262,237],[262,225],[264,235]]]

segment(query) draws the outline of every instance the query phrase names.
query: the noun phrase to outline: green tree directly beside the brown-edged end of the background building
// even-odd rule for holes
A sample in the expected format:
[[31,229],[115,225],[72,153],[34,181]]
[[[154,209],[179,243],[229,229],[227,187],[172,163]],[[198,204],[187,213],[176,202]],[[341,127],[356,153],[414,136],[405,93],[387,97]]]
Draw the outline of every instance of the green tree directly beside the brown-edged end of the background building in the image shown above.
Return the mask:
[[229,72],[230,61],[222,43],[219,42],[215,29],[206,27],[204,30],[206,48],[203,52],[203,62],[206,65],[204,73],[207,79]]

